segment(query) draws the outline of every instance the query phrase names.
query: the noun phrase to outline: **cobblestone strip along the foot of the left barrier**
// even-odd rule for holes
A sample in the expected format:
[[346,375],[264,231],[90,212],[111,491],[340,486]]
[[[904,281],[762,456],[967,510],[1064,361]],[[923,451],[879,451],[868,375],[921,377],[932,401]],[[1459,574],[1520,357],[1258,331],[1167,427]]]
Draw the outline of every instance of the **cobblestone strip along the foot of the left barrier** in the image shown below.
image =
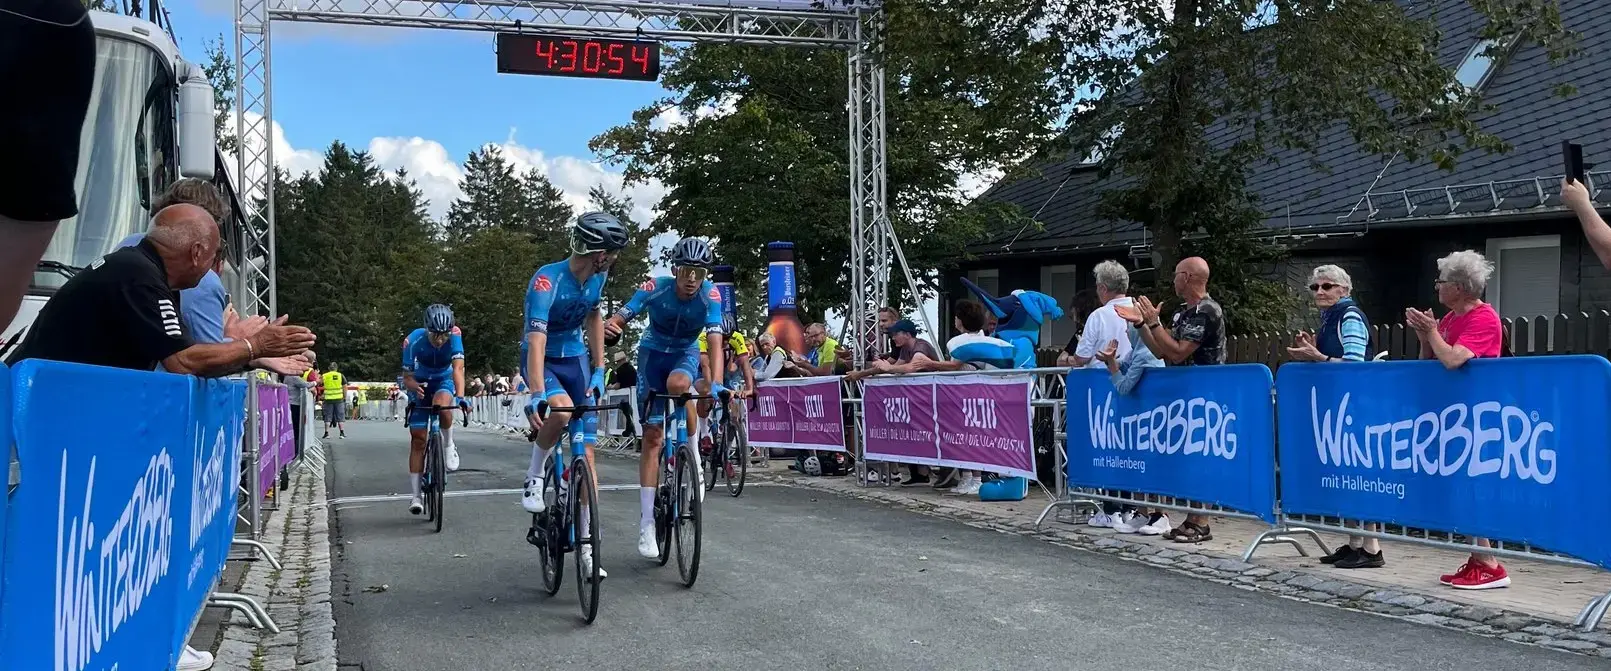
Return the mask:
[[216,671],[335,671],[335,616],[330,611],[330,523],[319,473],[296,470],[280,510],[261,541],[280,570],[253,562],[240,594],[267,608],[280,632],[253,629],[235,613],[224,624]]

